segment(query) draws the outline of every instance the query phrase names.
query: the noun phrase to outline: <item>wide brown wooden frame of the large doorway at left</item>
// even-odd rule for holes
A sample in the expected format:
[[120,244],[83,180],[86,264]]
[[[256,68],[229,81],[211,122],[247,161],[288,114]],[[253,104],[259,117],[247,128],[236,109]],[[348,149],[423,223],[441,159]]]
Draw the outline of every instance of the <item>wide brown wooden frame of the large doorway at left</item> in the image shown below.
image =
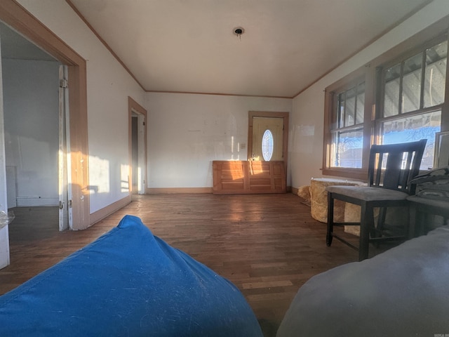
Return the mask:
[[0,20],[68,67],[73,229],[83,230],[91,225],[86,60],[14,0],[0,1]]

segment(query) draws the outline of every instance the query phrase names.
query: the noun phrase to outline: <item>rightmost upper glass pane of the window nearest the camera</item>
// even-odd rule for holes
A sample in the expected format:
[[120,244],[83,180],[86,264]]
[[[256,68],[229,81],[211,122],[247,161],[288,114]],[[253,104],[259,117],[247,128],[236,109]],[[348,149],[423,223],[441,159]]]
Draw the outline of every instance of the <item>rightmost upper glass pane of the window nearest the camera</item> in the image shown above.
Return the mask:
[[448,41],[426,51],[424,81],[424,107],[433,107],[444,102]]

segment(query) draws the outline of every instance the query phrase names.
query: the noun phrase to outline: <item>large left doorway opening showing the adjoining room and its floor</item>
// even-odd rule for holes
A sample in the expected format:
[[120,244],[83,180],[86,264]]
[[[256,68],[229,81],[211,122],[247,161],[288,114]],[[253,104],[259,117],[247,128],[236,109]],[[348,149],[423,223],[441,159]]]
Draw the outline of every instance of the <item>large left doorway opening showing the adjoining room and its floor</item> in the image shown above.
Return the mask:
[[0,41],[5,204],[15,215],[8,239],[17,243],[65,229],[58,219],[61,64],[3,22]]

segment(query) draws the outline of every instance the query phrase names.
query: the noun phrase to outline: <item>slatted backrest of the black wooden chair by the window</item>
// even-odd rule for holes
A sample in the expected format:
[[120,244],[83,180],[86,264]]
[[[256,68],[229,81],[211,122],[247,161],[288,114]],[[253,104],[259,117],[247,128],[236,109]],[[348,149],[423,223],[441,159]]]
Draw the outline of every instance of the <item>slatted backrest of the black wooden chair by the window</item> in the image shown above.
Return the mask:
[[373,145],[368,164],[368,184],[413,194],[410,180],[420,173],[427,139],[411,143]]

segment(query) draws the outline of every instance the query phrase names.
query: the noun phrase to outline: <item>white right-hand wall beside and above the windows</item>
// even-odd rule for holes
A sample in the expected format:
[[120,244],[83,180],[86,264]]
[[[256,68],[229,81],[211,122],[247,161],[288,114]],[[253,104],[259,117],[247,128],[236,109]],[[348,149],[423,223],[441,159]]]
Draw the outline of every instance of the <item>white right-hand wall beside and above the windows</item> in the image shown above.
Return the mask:
[[293,99],[293,116],[290,117],[292,187],[309,185],[311,178],[322,176],[324,89],[446,15],[449,15],[448,1],[434,0]]

